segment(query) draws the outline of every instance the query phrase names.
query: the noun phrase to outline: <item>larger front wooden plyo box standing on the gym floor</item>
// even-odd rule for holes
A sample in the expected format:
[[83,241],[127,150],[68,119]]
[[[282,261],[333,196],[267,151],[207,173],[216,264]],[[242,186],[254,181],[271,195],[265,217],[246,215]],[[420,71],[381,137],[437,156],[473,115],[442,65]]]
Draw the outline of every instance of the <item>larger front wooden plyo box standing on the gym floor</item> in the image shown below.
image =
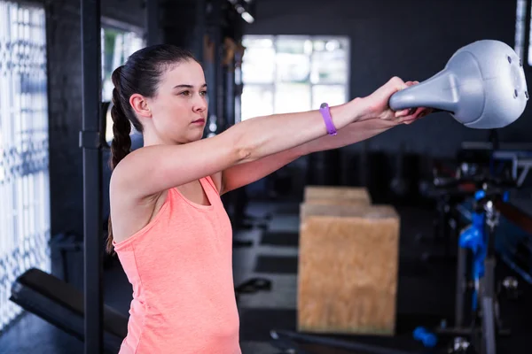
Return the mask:
[[395,334],[399,227],[387,205],[301,204],[300,331]]

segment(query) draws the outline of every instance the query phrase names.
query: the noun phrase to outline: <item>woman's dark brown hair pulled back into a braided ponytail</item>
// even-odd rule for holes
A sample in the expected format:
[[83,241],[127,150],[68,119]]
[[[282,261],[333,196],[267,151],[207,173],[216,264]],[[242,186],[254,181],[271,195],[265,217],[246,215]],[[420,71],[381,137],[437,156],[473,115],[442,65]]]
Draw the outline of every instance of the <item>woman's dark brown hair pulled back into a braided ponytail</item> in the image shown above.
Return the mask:
[[[113,81],[113,142],[111,142],[111,170],[125,158],[131,150],[131,124],[139,133],[143,127],[129,104],[129,97],[140,94],[153,97],[157,93],[161,76],[169,69],[183,62],[196,61],[188,50],[171,44],[157,44],[137,50],[126,64],[117,67],[111,80]],[[107,247],[113,251],[113,227],[109,216]]]

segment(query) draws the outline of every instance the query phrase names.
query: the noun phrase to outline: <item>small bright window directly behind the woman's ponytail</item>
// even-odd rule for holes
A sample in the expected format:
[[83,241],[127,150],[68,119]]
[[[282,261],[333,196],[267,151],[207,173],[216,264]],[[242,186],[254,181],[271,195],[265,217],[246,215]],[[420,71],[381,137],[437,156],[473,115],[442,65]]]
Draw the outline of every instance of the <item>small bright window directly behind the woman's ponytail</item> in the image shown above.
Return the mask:
[[[134,31],[126,31],[115,27],[102,27],[102,100],[111,102],[113,99],[113,81],[111,75],[114,69],[123,65],[131,54],[145,46],[141,35]],[[113,140],[113,119],[111,107],[106,115],[106,141]],[[133,131],[131,132],[133,133]]]

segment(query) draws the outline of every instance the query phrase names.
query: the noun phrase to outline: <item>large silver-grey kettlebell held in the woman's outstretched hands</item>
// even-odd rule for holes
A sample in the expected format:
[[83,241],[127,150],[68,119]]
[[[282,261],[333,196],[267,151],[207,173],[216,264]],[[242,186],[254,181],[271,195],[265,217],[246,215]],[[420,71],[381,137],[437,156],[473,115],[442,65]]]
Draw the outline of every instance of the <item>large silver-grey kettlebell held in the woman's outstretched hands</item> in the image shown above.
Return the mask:
[[390,97],[395,111],[429,107],[466,127],[491,129],[512,124],[528,101],[522,62],[505,42],[482,40],[460,48],[445,68]]

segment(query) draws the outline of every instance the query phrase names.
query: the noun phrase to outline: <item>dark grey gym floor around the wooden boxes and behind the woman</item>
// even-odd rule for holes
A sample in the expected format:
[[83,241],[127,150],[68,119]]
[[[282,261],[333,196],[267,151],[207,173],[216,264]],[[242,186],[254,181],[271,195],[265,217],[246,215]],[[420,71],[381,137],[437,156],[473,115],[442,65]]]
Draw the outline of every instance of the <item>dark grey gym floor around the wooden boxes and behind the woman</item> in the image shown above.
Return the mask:
[[[241,348],[243,354],[280,353],[271,345],[270,330],[295,330],[296,287],[298,257],[298,204],[253,203],[248,213],[262,217],[272,215],[267,230],[259,227],[239,231],[236,239],[251,241],[250,247],[234,249],[235,284],[252,277],[270,279],[270,291],[239,297]],[[400,278],[397,298],[397,334],[394,337],[357,336],[356,340],[387,348],[422,353],[446,352],[450,339],[442,339],[434,350],[424,349],[412,339],[412,330],[418,326],[438,326],[442,319],[452,324],[454,313],[455,264],[442,255],[442,244],[430,240],[434,215],[420,209],[401,208]],[[426,258],[426,256],[429,256]],[[424,257],[425,256],[425,257]],[[433,256],[433,257],[430,257]],[[55,258],[54,258],[55,259]],[[425,260],[423,260],[425,259]],[[54,267],[59,267],[54,260]],[[70,259],[73,273],[82,274],[82,262]],[[500,263],[499,263],[500,265]],[[77,270],[76,268],[77,267]],[[511,273],[501,265],[502,274]],[[80,281],[81,277],[75,279]],[[78,284],[78,285],[80,285]],[[120,264],[105,273],[106,304],[124,314],[128,313],[131,289]],[[526,302],[532,289],[520,281],[520,298],[503,303],[502,313],[512,329],[512,335],[501,339],[499,352],[528,353],[528,336],[532,333],[532,304]],[[353,337],[341,339],[353,340]],[[324,347],[305,346],[309,353],[353,353]],[[82,353],[82,342],[66,335],[56,327],[33,314],[23,314],[3,335],[0,335],[0,354],[74,354]]]

